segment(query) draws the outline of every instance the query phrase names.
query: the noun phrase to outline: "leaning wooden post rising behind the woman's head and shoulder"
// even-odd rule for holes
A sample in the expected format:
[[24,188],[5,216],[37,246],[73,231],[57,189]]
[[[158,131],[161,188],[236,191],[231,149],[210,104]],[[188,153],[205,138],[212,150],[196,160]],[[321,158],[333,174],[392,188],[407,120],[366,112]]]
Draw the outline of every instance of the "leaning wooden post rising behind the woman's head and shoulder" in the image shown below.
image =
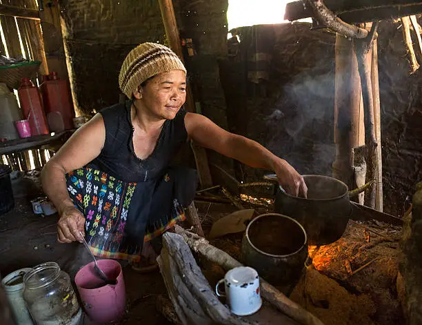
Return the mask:
[[[172,0],[159,0],[161,17],[163,18],[163,25],[165,29],[165,35],[167,36],[170,48],[177,54],[177,56],[183,59],[183,52],[181,49],[180,35],[177,28],[176,17],[174,16],[174,8]],[[185,107],[188,112],[195,112],[194,100],[192,97],[192,90],[190,86],[186,88],[186,102]],[[199,174],[199,181],[202,188],[208,188],[212,186],[212,178],[210,173],[210,167],[208,165],[207,153],[204,148],[199,146],[192,146],[194,151],[195,160],[197,163],[197,169]]]

